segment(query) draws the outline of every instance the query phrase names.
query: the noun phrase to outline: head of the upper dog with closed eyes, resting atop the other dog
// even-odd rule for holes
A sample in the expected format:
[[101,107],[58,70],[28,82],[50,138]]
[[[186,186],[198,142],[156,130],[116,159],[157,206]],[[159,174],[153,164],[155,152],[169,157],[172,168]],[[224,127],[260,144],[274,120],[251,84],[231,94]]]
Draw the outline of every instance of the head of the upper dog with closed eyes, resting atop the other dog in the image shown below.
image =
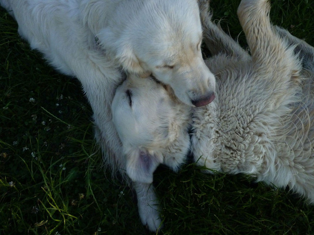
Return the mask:
[[[215,98],[215,77],[202,59],[196,0],[123,2],[119,19],[98,34],[100,43],[129,73],[170,85],[189,106]],[[127,6],[127,5],[132,6]],[[109,20],[108,20],[109,21]],[[123,27],[121,26],[123,25]],[[122,28],[121,28],[122,27]]]

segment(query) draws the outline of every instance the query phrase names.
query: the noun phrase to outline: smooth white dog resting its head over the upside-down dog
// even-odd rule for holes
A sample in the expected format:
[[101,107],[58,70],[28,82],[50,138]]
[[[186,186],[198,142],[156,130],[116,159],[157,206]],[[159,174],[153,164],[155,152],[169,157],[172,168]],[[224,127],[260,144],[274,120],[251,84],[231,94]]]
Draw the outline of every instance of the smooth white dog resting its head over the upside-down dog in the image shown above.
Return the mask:
[[[122,154],[110,109],[123,79],[121,68],[141,77],[152,73],[190,106],[207,105],[215,98],[214,75],[201,55],[197,0],[0,0],[0,4],[16,19],[19,34],[32,49],[81,81],[112,172],[133,172]],[[142,167],[137,168],[139,174]],[[159,214],[148,206],[152,176],[138,177],[137,172],[129,176],[142,222],[150,230],[158,229]]]

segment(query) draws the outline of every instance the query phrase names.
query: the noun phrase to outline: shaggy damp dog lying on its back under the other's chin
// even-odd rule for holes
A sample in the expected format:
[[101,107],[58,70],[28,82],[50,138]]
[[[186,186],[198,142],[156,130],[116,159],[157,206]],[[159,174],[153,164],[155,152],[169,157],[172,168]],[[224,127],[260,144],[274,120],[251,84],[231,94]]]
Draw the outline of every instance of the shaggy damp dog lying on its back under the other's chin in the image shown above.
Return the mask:
[[[113,117],[126,155],[134,149],[148,152],[146,166],[161,162],[162,155],[175,168],[188,150],[191,125],[194,160],[207,172],[252,174],[258,181],[289,186],[314,203],[314,48],[272,26],[269,9],[267,0],[241,2],[238,15],[250,56],[203,8],[204,41],[213,55],[206,63],[218,78],[211,104],[178,104],[152,79],[127,80],[117,89],[114,102],[120,105]],[[160,91],[143,93],[142,83]],[[121,97],[127,90],[134,90],[132,107]]]

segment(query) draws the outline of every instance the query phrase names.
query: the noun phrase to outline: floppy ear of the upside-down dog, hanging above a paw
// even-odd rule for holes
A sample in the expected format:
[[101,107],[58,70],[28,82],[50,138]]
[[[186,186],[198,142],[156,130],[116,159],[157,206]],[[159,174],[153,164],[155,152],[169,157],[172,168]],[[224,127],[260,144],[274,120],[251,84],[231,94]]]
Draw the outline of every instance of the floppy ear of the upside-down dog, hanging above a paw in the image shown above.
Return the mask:
[[135,182],[151,183],[153,172],[162,162],[161,156],[147,150],[133,150],[127,155],[127,174]]

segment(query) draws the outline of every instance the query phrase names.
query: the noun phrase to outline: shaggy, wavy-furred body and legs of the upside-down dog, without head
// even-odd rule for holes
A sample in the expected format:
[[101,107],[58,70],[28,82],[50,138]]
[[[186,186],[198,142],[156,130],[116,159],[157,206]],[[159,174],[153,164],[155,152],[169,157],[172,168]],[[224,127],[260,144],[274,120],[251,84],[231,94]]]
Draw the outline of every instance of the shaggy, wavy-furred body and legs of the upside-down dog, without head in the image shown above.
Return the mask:
[[223,33],[205,20],[218,32],[206,35],[210,51],[224,51],[207,61],[219,88],[194,111],[191,147],[199,165],[289,186],[314,203],[314,49],[271,26],[269,9],[263,0],[239,6],[251,59],[226,35],[217,40]]

